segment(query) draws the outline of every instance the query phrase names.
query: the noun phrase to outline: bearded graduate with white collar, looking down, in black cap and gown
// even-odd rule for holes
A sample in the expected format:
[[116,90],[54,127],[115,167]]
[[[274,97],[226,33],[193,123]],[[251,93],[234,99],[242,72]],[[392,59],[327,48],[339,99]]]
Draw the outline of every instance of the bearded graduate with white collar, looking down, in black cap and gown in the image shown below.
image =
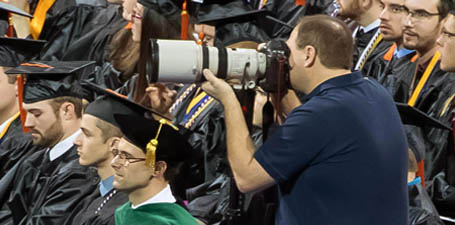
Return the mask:
[[79,165],[73,141],[79,134],[82,99],[78,72],[91,62],[29,62],[7,74],[26,74],[25,127],[42,150],[0,180],[0,204],[9,212],[0,224],[62,224],[74,206],[96,188]]

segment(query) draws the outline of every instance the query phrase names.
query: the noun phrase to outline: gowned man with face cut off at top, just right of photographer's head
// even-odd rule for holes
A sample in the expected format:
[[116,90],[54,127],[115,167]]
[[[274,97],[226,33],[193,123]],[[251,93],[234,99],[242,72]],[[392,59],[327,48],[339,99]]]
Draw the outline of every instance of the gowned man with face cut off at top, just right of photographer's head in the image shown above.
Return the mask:
[[392,45],[384,40],[379,30],[379,14],[382,9],[379,0],[337,0],[339,16],[356,21],[354,30],[353,70],[361,70],[365,76],[377,78],[385,63],[378,60]]

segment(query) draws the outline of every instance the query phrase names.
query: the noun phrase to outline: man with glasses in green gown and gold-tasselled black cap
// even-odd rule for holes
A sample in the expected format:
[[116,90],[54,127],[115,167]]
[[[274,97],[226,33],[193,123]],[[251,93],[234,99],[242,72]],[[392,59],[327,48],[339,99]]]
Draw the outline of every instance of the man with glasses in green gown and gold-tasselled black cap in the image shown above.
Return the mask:
[[115,115],[125,135],[112,151],[114,188],[128,193],[129,202],[115,212],[116,225],[197,225],[172,194],[169,182],[178,174],[191,147],[165,119]]

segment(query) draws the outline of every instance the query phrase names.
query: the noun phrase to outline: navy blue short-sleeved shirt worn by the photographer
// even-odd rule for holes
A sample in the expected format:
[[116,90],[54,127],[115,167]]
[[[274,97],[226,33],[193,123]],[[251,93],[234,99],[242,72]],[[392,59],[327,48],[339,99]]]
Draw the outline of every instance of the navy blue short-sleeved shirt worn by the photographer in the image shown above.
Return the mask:
[[306,98],[255,153],[279,186],[276,224],[407,224],[408,147],[392,97],[354,72]]

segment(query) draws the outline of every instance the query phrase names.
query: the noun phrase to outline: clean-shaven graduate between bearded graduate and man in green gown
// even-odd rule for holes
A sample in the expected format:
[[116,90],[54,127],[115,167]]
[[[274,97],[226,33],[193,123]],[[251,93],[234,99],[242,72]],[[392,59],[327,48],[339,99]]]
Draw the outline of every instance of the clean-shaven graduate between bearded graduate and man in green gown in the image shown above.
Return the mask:
[[79,204],[66,224],[114,225],[115,209],[128,201],[126,193],[118,192],[113,187],[114,169],[110,165],[113,159],[111,151],[123,136],[114,119],[114,114],[140,116],[135,113],[140,110],[134,110],[136,105],[130,104],[128,100],[101,86],[90,84],[89,87],[102,96],[87,106],[82,115],[82,132],[74,140],[74,144],[78,147],[79,163],[83,166],[95,166],[101,181],[98,191],[90,196],[93,201]]

